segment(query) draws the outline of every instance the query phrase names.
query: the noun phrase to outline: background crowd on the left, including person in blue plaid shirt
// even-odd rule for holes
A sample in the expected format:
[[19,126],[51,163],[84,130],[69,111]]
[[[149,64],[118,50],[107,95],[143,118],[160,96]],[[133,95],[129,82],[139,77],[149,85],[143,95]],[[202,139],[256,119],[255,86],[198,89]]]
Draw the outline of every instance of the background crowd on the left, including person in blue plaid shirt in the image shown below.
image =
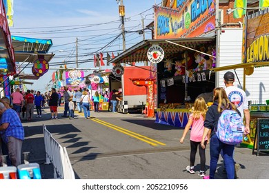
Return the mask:
[[[10,98],[3,96],[0,99],[0,155],[6,154],[8,165],[21,164],[21,147],[24,140],[24,130],[21,121],[26,119],[31,121],[34,116],[34,107],[36,108],[37,118],[42,117],[42,108],[50,108],[50,119],[58,119],[58,107],[61,106],[63,99],[64,111],[63,117],[74,119],[74,110],[84,112],[85,119],[90,119],[90,106],[94,104],[94,112],[99,112],[99,101],[107,101],[111,105],[111,111],[115,112],[117,100],[120,99],[118,90],[112,90],[110,94],[104,92],[94,92],[93,96],[87,88],[77,90],[68,90],[65,86],[63,93],[57,92],[52,88],[49,92],[41,94],[40,91],[34,93],[34,90],[22,92],[17,88]],[[110,111],[110,110],[108,110]],[[0,166],[2,160],[0,156]]]

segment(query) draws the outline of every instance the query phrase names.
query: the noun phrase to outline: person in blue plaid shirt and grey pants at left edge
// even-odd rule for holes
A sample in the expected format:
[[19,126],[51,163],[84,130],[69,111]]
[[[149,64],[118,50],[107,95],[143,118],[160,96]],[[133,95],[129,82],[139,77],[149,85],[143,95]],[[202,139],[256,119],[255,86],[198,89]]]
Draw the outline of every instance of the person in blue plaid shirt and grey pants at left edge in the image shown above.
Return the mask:
[[3,143],[8,147],[8,156],[12,165],[21,164],[21,148],[24,140],[24,129],[17,112],[7,109],[0,103],[0,132]]

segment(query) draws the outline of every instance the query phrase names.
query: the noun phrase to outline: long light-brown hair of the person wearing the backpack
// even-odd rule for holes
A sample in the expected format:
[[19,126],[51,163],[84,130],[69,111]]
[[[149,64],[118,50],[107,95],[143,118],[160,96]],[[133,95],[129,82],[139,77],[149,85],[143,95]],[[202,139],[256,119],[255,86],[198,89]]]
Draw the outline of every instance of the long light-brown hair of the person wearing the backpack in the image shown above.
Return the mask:
[[218,101],[218,112],[223,112],[226,109],[237,110],[236,106],[228,99],[226,91],[223,88],[214,89],[213,101]]

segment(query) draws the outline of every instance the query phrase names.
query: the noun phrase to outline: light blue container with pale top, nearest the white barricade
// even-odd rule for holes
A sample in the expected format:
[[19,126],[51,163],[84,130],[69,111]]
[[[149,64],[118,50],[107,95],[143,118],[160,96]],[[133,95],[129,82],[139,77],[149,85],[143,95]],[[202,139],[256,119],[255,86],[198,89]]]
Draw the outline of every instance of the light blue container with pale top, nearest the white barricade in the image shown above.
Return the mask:
[[41,179],[38,163],[27,163],[17,166],[19,179]]

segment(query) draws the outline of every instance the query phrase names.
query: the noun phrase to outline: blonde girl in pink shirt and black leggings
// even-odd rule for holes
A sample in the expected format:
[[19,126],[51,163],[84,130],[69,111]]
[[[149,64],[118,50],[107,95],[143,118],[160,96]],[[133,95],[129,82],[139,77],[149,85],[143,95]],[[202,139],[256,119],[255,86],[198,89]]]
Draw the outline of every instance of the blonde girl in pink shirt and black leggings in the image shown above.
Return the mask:
[[[180,139],[180,143],[183,143],[188,130],[190,127],[192,130],[190,131],[190,165],[186,167],[186,170],[190,172],[190,174],[195,174],[195,154],[197,152],[197,147],[199,146],[199,154],[201,160],[201,168],[199,172],[199,176],[205,176],[205,165],[206,165],[206,150],[201,148],[201,139],[203,136],[203,122],[206,118],[206,101],[202,97],[198,97],[195,100],[195,106],[192,114],[190,114],[189,121],[184,129],[182,137]],[[207,140],[207,138],[206,138]],[[204,145],[206,146],[207,141],[205,141]]]

